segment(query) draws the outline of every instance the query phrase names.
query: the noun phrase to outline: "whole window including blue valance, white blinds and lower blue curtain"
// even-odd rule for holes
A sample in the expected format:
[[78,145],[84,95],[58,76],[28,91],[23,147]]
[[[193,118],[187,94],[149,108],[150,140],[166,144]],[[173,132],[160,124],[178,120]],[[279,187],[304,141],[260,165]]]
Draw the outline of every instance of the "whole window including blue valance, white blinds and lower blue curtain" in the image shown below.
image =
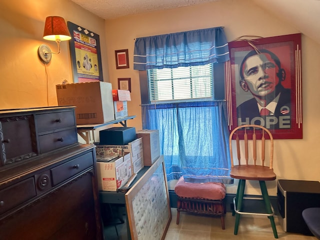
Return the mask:
[[230,182],[223,27],[137,38],[143,129],[158,129],[167,180]]

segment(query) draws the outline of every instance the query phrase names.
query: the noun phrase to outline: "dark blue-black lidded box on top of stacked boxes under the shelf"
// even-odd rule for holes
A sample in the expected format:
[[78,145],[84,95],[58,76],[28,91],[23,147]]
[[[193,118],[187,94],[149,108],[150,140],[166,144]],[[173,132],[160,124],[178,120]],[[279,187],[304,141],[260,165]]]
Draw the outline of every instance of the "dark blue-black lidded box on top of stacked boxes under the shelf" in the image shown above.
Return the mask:
[[100,145],[127,145],[136,139],[135,127],[115,126],[99,131]]

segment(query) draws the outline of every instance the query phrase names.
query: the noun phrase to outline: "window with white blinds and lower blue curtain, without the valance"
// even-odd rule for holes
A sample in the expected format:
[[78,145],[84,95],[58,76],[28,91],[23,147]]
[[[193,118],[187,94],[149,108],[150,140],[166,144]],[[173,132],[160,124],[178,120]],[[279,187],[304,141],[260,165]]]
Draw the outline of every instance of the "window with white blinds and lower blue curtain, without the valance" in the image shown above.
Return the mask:
[[142,128],[159,130],[167,180],[183,175],[229,184],[224,63],[148,69],[139,76]]

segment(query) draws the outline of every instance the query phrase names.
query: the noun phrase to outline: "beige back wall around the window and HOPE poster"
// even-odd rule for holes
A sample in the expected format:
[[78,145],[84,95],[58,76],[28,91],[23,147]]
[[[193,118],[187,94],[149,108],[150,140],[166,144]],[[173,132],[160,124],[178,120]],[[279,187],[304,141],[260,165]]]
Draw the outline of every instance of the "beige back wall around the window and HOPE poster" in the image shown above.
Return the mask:
[[[228,41],[241,35],[268,37],[298,32],[249,0],[224,0],[106,20],[110,82],[114,85],[118,77],[131,77],[132,101],[128,109],[129,114],[137,117],[129,120],[129,125],[141,127],[138,71],[132,67],[133,38],[214,26],[225,27]],[[115,69],[114,50],[123,48],[128,48],[130,68]],[[316,143],[320,136],[316,127],[320,117],[319,53],[320,45],[302,35],[303,139],[275,140],[274,171],[279,179],[320,180],[320,147]],[[269,193],[276,195],[276,182],[268,185]],[[254,184],[247,193],[258,193],[256,189],[258,185]],[[227,191],[235,193],[235,184],[228,185]]]

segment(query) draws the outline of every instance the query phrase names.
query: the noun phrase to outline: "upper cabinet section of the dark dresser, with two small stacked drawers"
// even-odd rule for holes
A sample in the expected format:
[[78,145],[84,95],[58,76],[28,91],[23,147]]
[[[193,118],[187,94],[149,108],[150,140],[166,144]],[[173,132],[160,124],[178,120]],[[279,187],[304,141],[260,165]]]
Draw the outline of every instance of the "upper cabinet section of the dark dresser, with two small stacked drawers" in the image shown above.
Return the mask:
[[77,143],[74,107],[0,110],[0,166]]

